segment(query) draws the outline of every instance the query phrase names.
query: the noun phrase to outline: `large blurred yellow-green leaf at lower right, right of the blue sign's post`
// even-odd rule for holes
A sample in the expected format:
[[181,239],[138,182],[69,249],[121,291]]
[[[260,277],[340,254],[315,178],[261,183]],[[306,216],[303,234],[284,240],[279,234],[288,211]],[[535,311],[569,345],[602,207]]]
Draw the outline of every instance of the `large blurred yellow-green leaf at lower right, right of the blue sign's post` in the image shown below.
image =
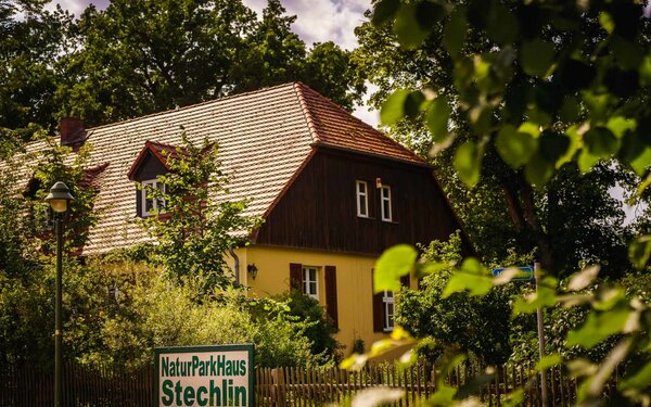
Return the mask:
[[607,338],[623,332],[630,314],[626,308],[588,314],[588,319],[580,328],[567,333],[566,346],[595,347]]

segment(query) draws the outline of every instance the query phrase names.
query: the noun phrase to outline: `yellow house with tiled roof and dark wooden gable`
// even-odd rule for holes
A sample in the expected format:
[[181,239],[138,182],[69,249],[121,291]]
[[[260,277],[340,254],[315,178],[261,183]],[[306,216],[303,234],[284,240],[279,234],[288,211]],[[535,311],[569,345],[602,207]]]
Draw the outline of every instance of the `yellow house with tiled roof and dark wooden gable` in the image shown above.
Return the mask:
[[191,141],[218,143],[232,177],[221,199],[247,199],[245,215],[265,219],[252,244],[230,257],[250,295],[303,290],[326,306],[348,349],[393,329],[393,293],[372,292],[378,256],[461,228],[431,165],[307,86],[289,84],[92,129],[63,120],[61,142],[91,143],[90,165],[101,168],[101,220],[84,253],[150,239],[132,220],[158,203],[137,183],[159,187],[163,151],[179,145],[181,128]]

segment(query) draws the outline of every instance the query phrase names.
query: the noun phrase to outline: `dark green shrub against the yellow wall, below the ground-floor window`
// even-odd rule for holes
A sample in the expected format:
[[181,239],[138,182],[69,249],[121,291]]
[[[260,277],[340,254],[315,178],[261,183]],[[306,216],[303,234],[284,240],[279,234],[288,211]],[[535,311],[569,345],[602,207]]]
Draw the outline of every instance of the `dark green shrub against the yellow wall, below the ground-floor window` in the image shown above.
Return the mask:
[[322,355],[323,358],[332,360],[341,358],[342,345],[334,339],[339,329],[317,300],[303,294],[299,290],[277,295],[273,300],[286,303],[288,314],[306,322],[305,336],[310,342],[312,355]]

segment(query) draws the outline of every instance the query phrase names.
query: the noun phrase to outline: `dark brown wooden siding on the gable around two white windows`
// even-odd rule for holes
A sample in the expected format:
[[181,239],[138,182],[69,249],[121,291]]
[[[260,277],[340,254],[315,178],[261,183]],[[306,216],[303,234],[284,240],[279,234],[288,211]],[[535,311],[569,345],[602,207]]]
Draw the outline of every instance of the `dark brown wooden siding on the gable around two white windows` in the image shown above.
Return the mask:
[[[381,220],[376,178],[391,187],[392,221]],[[357,216],[356,180],[368,182],[368,218]],[[398,243],[445,240],[459,228],[430,168],[320,149],[269,213],[255,242],[379,254]],[[464,249],[470,252],[470,245]]]

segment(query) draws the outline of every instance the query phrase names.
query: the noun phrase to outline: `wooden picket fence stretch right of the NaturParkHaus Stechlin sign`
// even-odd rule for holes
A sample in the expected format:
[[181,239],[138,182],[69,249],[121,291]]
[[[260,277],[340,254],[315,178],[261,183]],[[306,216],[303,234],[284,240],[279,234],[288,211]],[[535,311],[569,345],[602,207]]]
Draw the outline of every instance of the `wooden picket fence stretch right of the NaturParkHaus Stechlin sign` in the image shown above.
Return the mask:
[[[523,406],[541,406],[539,377],[528,367],[502,366],[493,370],[487,382],[480,380],[486,369],[461,365],[445,379],[446,385],[460,392],[474,389],[488,406],[500,406],[518,389],[523,389]],[[569,406],[576,399],[576,381],[560,367],[549,369],[548,393],[551,406]],[[258,368],[258,406],[322,406],[340,404],[369,387],[397,389],[405,396],[395,406],[414,406],[436,392],[435,370],[426,365],[398,369],[395,365],[366,366],[358,372],[336,368]],[[612,384],[612,383],[611,383]],[[610,389],[610,387],[609,387]]]

